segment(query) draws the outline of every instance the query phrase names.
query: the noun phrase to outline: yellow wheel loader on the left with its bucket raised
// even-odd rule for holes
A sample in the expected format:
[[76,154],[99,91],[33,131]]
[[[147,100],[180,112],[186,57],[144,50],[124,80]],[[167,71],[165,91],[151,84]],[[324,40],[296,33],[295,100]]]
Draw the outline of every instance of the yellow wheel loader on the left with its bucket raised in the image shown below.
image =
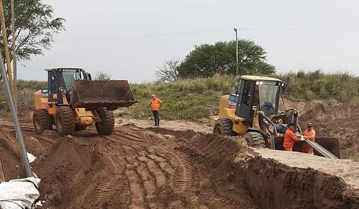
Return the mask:
[[71,135],[95,123],[101,135],[114,130],[112,110],[138,103],[128,81],[93,81],[80,68],[46,69],[48,88],[35,92],[35,111],[29,112],[37,133],[52,130]]

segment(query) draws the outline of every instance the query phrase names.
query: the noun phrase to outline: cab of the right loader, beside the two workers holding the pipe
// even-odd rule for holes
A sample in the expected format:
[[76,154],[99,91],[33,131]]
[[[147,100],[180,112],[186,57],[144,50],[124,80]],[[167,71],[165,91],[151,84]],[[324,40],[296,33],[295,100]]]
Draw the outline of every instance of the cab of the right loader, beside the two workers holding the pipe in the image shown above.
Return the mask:
[[279,79],[242,76],[239,79],[236,100],[238,101],[235,114],[245,119],[245,123],[253,123],[254,108],[269,116],[278,112],[280,91],[284,82]]

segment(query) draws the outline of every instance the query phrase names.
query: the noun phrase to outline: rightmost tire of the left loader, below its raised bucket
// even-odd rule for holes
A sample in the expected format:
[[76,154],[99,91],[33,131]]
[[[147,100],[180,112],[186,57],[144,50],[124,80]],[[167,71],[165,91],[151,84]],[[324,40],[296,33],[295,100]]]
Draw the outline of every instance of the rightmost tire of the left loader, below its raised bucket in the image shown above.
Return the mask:
[[111,110],[96,108],[102,122],[96,122],[96,130],[100,135],[110,135],[115,128],[115,117]]

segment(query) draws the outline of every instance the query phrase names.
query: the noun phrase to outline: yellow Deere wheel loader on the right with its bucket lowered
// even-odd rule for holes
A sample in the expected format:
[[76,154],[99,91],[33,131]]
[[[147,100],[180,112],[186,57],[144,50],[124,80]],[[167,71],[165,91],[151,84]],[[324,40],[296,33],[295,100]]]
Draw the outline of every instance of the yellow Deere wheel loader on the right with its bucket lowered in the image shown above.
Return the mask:
[[[298,111],[288,108],[278,112],[285,82],[262,76],[241,76],[236,93],[225,93],[219,104],[218,116],[211,116],[213,133],[243,136],[252,147],[284,150],[284,134],[289,123],[298,125]],[[283,100],[282,100],[283,102]],[[304,140],[314,148],[314,154],[328,158],[341,158],[338,137],[316,137]],[[302,151],[304,142],[295,142],[293,151]]]

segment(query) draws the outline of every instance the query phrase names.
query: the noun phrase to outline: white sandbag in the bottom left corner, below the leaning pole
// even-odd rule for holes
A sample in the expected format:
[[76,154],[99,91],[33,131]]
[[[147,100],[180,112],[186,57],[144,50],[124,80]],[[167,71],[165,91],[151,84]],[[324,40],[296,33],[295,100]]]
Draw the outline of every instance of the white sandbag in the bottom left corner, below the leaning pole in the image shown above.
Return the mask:
[[29,177],[1,182],[1,209],[31,209],[35,200],[40,196],[37,191],[40,181],[40,179]]

